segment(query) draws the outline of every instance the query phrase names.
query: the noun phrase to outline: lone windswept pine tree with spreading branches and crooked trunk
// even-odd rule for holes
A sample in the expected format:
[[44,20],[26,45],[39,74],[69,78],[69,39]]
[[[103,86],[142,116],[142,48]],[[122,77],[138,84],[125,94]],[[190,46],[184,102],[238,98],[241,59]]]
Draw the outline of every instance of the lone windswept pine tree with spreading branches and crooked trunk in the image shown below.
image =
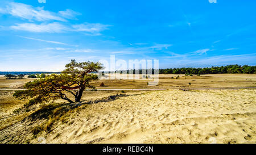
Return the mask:
[[[51,74],[46,78],[28,82],[24,86],[26,90],[15,91],[14,97],[30,99],[25,105],[26,107],[60,98],[70,103],[80,102],[86,87],[95,89],[89,82],[98,79],[98,77],[97,74],[90,73],[98,72],[100,69],[102,69],[102,64],[99,62],[76,62],[72,60],[71,63],[65,65],[61,74]],[[73,96],[73,99],[69,96]]]

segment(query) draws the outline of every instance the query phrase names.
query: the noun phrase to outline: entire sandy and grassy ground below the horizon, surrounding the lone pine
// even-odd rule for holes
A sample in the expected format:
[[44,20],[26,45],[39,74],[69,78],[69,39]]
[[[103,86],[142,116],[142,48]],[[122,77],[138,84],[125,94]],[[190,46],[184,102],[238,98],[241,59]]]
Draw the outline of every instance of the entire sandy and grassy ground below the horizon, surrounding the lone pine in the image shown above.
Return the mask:
[[256,74],[100,79],[111,91],[22,111],[14,91],[33,80],[0,77],[0,143],[256,143]]

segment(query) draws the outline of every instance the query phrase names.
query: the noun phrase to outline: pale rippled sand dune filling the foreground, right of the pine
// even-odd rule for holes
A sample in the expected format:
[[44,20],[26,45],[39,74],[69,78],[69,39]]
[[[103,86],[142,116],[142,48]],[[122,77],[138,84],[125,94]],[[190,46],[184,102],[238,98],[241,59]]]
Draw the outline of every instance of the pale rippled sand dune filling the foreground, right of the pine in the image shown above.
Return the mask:
[[256,143],[256,90],[126,93],[82,104],[67,122],[32,136],[40,122],[0,131],[0,143]]

